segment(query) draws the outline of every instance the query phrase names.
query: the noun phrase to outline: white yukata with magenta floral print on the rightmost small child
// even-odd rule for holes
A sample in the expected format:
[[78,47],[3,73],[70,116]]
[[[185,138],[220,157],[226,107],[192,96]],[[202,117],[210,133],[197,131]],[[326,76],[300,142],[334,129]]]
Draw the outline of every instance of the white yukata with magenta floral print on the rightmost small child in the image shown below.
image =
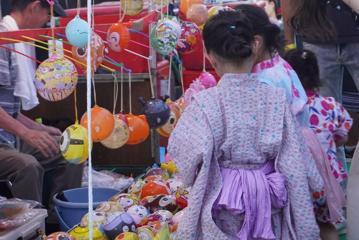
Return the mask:
[[[335,141],[344,138],[353,119],[341,104],[333,97],[322,97],[315,91],[307,91],[310,128],[316,133],[324,151],[328,155],[330,168],[334,177],[341,183],[347,177],[345,168],[336,158]],[[321,222],[331,222],[324,190],[313,193],[313,206],[317,219]],[[338,222],[342,222],[344,217]]]

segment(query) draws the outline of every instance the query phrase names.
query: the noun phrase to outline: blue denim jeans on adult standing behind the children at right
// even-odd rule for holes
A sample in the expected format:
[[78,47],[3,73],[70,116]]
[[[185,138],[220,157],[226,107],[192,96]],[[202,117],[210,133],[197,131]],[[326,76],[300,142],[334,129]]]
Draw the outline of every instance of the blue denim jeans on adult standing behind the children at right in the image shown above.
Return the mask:
[[[347,67],[356,87],[359,89],[359,43],[350,44],[308,44],[303,43],[304,49],[314,52],[318,58],[322,87],[320,94],[324,97],[334,97],[342,103],[342,86],[344,66]],[[347,170],[344,147],[336,149],[336,157]],[[344,193],[347,193],[348,178],[341,183]]]

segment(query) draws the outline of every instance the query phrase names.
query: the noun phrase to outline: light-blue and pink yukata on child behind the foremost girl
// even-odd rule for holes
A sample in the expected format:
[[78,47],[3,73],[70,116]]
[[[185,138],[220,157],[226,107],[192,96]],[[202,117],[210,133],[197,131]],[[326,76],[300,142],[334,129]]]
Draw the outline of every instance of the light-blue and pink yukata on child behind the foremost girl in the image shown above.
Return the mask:
[[293,68],[275,53],[273,58],[256,64],[252,72],[258,75],[261,83],[286,89],[286,96],[292,105],[294,115],[300,114],[298,121],[302,126],[305,125],[308,114],[303,111],[307,103],[307,95]]

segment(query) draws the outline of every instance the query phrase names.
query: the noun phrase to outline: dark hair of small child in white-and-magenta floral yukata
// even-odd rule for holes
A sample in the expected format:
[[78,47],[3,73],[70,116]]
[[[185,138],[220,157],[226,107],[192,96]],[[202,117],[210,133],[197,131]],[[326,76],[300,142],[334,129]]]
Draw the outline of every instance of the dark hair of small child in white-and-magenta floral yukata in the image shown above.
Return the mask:
[[313,52],[305,49],[292,49],[284,56],[298,75],[304,90],[318,90],[321,87],[319,67]]

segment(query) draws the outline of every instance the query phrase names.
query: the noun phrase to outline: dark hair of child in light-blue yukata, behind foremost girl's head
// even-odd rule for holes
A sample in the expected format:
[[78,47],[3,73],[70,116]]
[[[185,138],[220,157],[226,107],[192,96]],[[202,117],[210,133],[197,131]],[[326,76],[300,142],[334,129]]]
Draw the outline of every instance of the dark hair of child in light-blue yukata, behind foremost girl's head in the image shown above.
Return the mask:
[[284,54],[285,41],[281,37],[281,29],[269,22],[267,13],[262,8],[249,4],[241,4],[235,6],[234,9],[251,19],[254,35],[263,38],[265,46],[270,52],[276,50],[280,55]]

